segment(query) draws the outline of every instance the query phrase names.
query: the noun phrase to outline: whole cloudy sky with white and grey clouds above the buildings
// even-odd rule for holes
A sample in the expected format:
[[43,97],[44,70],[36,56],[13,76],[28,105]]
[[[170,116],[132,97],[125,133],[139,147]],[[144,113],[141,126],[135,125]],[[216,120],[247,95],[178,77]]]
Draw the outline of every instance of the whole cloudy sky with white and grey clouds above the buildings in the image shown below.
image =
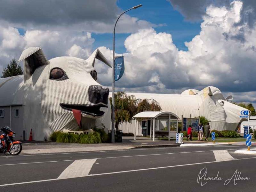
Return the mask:
[[[2,0],[0,73],[29,46],[48,59],[86,59],[97,47],[125,57],[118,91],[181,93],[211,85],[235,101],[256,106],[256,1],[230,0]],[[101,84],[111,90],[112,71],[97,62]]]

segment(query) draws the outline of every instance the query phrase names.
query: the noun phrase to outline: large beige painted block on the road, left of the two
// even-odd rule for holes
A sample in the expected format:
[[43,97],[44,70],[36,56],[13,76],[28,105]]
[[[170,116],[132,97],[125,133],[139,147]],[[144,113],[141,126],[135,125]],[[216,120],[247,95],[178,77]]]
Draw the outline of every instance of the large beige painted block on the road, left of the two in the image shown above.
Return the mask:
[[57,179],[84,177],[89,174],[97,159],[81,159],[70,164]]

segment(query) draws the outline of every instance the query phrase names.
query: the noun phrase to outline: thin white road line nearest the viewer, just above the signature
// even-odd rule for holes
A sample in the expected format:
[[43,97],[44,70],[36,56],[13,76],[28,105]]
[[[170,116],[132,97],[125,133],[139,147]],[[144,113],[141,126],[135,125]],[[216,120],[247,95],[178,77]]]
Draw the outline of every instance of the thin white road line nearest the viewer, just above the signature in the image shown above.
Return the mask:
[[[234,159],[233,161],[239,161],[239,160],[245,160],[245,159],[255,159],[255,158],[256,157]],[[99,176],[99,175],[110,175],[110,174],[117,174],[117,173],[147,171],[147,170],[156,170],[156,169],[165,169],[165,168],[172,168],[172,167],[182,167],[182,166],[198,165],[198,164],[210,164],[210,163],[220,163],[220,162],[219,161],[210,161],[210,162],[201,162],[201,163],[193,163],[193,164],[172,165],[172,166],[166,166],[166,167],[154,167],[154,168],[147,168],[147,169],[135,169],[135,170],[128,170],[128,171],[120,171],[120,172],[99,173],[99,174],[93,174],[93,175],[90,174],[90,175],[83,176],[83,177],[93,177],[93,176]],[[0,185],[0,187],[11,186],[11,185],[29,184],[29,183],[39,183],[39,182],[54,181],[54,180],[62,180],[62,179],[48,179],[48,180],[27,181],[27,182],[20,182],[20,183],[9,183],[9,184]]]

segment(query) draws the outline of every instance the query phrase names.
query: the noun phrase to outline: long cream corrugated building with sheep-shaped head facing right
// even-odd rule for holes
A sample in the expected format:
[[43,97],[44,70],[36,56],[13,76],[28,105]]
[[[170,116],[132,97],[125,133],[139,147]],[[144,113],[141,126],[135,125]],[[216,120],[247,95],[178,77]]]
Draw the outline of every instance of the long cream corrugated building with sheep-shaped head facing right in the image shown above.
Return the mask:
[[[156,100],[161,106],[162,111],[172,112],[180,118],[180,122],[183,124],[183,130],[187,130],[188,126],[191,124],[193,130],[196,131],[199,123],[199,116],[206,117],[210,122],[211,129],[218,131],[236,131],[240,127],[242,121],[248,121],[247,118],[240,118],[241,111],[246,111],[247,109],[229,102],[229,100],[233,99],[232,96],[225,98],[218,88],[212,86],[205,87],[201,91],[188,89],[181,94],[126,94],[134,95],[136,98],[140,99]],[[150,135],[150,121],[148,120],[150,119],[142,119],[140,121],[140,127],[137,129],[138,132],[136,135],[142,135],[142,127],[147,127],[148,135]],[[131,123],[124,123],[119,125],[119,129],[123,130],[123,132],[134,133],[135,120],[132,121],[132,124],[133,126],[131,126]],[[168,119],[159,120],[159,130],[164,130],[166,126],[168,126]]]

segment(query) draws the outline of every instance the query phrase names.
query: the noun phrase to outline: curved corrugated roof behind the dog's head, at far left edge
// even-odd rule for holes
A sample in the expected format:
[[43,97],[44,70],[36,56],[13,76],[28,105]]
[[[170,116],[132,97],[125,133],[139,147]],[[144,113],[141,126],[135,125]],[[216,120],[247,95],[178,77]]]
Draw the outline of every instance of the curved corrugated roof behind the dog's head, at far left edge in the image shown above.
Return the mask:
[[13,103],[15,93],[23,85],[23,75],[0,79],[0,106],[17,105]]

